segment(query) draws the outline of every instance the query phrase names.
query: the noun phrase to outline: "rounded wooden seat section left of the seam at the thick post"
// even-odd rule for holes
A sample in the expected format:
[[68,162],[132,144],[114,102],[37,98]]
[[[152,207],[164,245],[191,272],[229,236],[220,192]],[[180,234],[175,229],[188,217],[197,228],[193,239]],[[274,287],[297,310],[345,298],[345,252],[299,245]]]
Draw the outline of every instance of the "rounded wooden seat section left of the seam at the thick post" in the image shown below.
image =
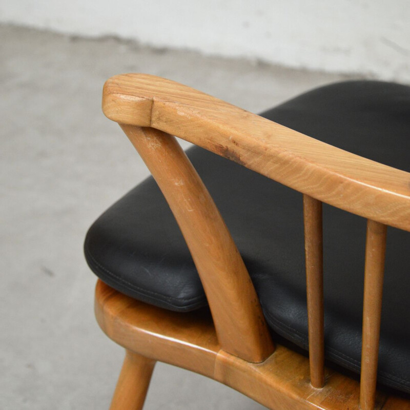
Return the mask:
[[160,309],[98,280],[94,310],[104,333],[126,350],[213,377],[220,345],[209,309]]

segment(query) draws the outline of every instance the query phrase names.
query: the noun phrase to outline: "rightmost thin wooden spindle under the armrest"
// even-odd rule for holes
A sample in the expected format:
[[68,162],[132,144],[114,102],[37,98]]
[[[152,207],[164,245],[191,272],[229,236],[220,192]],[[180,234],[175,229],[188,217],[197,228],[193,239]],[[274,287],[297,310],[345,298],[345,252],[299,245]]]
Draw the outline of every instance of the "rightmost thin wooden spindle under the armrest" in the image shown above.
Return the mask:
[[376,400],[386,228],[380,222],[367,220],[360,372],[362,410],[373,410]]

